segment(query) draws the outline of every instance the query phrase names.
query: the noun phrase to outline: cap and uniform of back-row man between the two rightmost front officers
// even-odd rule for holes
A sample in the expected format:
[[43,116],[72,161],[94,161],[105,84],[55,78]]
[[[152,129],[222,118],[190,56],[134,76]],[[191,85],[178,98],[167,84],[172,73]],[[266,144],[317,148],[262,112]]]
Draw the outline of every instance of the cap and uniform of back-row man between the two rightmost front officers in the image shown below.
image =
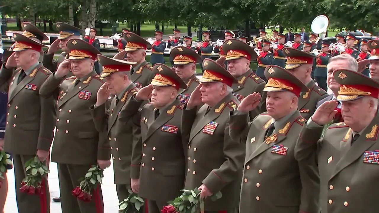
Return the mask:
[[[317,56],[302,52],[290,47],[283,48],[283,53],[287,57],[285,69],[295,69],[302,64],[313,64]],[[316,85],[315,81],[310,80],[305,84],[308,87],[307,92],[302,92],[299,97],[298,109],[301,116],[306,120],[316,111],[317,102],[328,96],[327,92]]]

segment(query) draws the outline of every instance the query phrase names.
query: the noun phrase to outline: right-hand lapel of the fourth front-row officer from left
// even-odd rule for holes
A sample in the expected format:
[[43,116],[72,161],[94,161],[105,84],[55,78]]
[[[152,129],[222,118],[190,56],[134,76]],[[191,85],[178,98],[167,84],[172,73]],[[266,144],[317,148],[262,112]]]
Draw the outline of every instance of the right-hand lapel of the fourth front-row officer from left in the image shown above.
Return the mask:
[[[158,128],[160,128],[162,125],[166,124],[169,120],[171,120],[174,117],[175,111],[177,107],[180,105],[179,99],[175,99],[173,103],[171,103],[167,108],[162,111],[160,111],[160,115],[158,118],[152,122],[152,124],[149,127],[149,130],[147,130],[146,133],[146,139],[148,139]],[[154,114],[154,112],[152,113]]]

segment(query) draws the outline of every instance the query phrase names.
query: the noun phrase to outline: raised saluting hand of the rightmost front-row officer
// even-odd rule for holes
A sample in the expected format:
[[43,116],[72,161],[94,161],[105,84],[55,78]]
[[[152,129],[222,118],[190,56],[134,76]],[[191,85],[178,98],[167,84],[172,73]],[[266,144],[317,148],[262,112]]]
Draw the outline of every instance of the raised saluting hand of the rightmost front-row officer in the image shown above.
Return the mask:
[[315,113],[312,115],[312,121],[320,126],[329,123],[333,120],[333,117],[337,113],[337,110],[335,110],[337,105],[337,100],[329,100],[324,102],[316,109]]

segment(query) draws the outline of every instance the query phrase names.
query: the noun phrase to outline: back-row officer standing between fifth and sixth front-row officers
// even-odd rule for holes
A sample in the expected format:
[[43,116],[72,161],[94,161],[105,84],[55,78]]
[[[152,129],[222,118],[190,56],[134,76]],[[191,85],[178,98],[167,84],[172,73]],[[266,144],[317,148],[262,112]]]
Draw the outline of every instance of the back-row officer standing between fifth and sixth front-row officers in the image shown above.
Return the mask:
[[[226,53],[225,60],[228,61],[227,70],[237,79],[233,83],[233,95],[238,101],[253,92],[262,93],[265,87],[265,81],[254,74],[250,69],[250,61],[257,59],[257,53],[246,43],[238,39],[228,39],[222,45],[222,50]],[[219,61],[217,61],[219,63]],[[262,102],[254,111],[250,113],[251,119],[258,114],[266,111],[266,97],[262,98]]]

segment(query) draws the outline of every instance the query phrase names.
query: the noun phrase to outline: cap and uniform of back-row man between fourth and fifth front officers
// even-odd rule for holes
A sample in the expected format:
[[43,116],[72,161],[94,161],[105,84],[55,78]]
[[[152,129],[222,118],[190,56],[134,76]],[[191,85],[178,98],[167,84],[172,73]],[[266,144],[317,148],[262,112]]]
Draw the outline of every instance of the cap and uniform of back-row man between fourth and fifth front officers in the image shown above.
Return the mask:
[[[175,65],[189,64],[189,63],[199,63],[201,58],[194,50],[185,48],[185,47],[175,47],[172,49],[170,56],[174,58]],[[177,97],[180,100],[180,103],[186,104],[191,96],[191,93],[199,86],[199,78],[196,77],[196,74],[193,74],[188,79],[182,79],[187,85],[187,88],[179,88]]]

